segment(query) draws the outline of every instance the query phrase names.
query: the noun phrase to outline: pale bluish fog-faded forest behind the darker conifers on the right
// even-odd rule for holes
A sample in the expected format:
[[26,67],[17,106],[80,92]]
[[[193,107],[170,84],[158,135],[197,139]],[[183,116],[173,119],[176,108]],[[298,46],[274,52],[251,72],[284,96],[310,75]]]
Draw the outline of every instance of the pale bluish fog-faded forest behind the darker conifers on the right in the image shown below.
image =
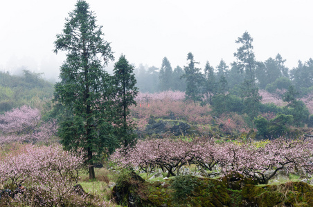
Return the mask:
[[[250,37],[251,38],[251,37]],[[253,39],[251,39],[253,40]],[[251,46],[251,54],[253,54],[253,46]],[[186,55],[187,57],[187,55]],[[298,61],[296,68],[287,68],[285,66],[286,59],[278,53],[276,57],[269,57],[266,61],[252,60],[253,79],[256,86],[261,90],[267,90],[274,93],[278,90],[287,90],[289,86],[294,86],[298,92],[298,96],[307,95],[313,90],[313,59],[305,62]],[[161,92],[164,90],[186,91],[186,66],[172,67],[170,60],[164,57],[160,60],[161,68],[145,67],[143,65],[135,68],[137,87],[141,92]],[[197,57],[194,60],[195,68],[197,68]],[[206,62],[205,68],[199,69],[199,93],[204,92],[206,85],[213,84],[215,92],[221,90],[235,90],[244,82],[247,77],[247,70],[244,70],[240,61],[233,61],[230,65],[221,59],[220,64],[211,66],[210,62]],[[210,79],[210,80],[208,80]],[[214,91],[213,90],[213,91]]]

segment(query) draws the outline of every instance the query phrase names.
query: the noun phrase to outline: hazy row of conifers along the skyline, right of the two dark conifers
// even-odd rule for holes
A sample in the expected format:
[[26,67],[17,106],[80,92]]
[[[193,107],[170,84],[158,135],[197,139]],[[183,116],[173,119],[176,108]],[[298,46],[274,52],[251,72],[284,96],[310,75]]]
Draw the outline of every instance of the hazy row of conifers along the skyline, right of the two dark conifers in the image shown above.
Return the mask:
[[[306,95],[313,90],[313,59],[304,63],[298,61],[296,68],[287,68],[285,59],[278,53],[276,57],[269,57],[265,61],[257,61],[253,52],[253,38],[248,32],[244,32],[236,43],[240,44],[234,57],[237,59],[230,65],[221,59],[217,66],[211,66],[209,61],[204,68],[199,68],[198,62],[191,52],[188,53],[187,65],[172,68],[170,60],[164,57],[161,68],[145,67],[135,68],[137,87],[141,92],[159,92],[163,90],[188,91],[190,87],[197,87],[198,95],[210,97],[210,95],[229,90],[236,90],[244,81],[250,80],[251,86],[255,86],[269,92],[287,90],[294,86],[299,96]],[[191,72],[191,73],[190,73]],[[195,79],[201,79],[198,86],[188,85],[190,75]],[[191,83],[190,83],[191,84]]]

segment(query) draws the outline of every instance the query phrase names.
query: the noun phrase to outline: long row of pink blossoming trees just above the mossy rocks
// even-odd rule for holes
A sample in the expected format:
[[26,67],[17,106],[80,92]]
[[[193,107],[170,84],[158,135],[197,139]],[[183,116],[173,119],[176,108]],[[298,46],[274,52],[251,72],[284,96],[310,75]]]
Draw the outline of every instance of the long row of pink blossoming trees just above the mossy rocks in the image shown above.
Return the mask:
[[246,177],[267,184],[276,172],[283,169],[303,168],[313,171],[313,144],[311,140],[276,139],[260,147],[256,143],[223,142],[197,138],[154,139],[138,141],[134,148],[125,152],[119,149],[111,160],[123,167],[139,167],[147,172],[159,167],[168,176],[179,175],[186,164],[195,164],[206,170],[220,168],[222,175],[239,172]]

